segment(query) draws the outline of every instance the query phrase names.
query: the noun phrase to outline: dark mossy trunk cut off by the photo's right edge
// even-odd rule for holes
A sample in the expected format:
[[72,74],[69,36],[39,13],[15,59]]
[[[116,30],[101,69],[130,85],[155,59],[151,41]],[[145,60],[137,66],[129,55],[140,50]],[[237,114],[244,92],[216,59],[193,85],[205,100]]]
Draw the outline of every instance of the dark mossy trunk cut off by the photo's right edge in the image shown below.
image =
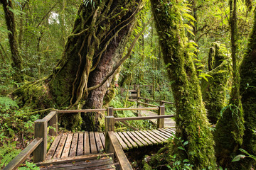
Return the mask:
[[[247,52],[240,65],[240,94],[245,118],[245,135],[242,148],[256,155],[256,12],[255,23],[247,45]],[[251,169],[256,162],[251,158],[242,160],[241,169]]]

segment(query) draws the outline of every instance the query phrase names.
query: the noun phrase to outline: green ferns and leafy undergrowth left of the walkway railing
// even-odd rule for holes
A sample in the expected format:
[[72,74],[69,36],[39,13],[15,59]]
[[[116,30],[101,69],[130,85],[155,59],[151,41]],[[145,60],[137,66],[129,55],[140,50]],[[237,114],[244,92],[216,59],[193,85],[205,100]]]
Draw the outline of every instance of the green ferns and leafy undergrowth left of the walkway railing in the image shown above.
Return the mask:
[[28,108],[19,109],[11,98],[0,97],[0,169],[31,142],[33,122],[39,116],[29,113]]

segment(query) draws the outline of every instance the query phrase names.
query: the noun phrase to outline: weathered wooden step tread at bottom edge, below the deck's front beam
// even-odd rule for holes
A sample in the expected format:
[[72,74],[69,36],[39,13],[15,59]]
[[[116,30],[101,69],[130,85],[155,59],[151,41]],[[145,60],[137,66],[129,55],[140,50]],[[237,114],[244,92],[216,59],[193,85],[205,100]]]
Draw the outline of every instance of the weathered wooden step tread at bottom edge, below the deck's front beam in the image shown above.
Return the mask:
[[[94,159],[94,160],[87,160],[80,161],[80,162],[71,162],[67,164],[56,164],[53,166],[46,167],[45,169],[90,169],[94,167],[95,169],[99,169],[100,166],[104,165],[113,165],[114,162],[112,159]],[[110,168],[112,168],[110,166]]]

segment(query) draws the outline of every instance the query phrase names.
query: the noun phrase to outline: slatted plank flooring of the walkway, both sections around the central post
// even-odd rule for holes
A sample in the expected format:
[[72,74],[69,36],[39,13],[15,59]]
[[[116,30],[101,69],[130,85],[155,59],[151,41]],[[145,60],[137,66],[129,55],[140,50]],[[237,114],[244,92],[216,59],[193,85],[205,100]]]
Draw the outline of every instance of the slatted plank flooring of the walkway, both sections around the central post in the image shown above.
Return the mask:
[[[128,150],[148,145],[159,145],[172,136],[174,129],[143,130],[133,132],[114,132],[122,146]],[[64,159],[88,154],[100,154],[105,148],[105,133],[76,132],[55,137],[46,155],[46,160]]]

